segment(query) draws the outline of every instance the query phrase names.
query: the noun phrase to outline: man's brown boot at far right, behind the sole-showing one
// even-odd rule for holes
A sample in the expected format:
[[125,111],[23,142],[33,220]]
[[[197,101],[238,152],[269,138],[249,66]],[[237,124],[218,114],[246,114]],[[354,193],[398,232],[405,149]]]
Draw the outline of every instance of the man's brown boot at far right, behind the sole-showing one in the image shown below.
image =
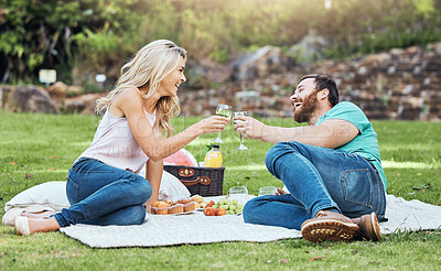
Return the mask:
[[356,240],[362,240],[363,238],[372,241],[381,240],[381,232],[379,231],[378,219],[375,213],[352,218],[351,220],[358,226],[358,231],[355,236]]

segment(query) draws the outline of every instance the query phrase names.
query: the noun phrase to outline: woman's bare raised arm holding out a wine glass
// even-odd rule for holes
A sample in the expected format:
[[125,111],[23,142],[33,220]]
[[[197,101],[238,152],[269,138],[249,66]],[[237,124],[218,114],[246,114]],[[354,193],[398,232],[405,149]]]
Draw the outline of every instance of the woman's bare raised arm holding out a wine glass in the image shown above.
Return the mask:
[[136,141],[153,162],[181,150],[203,133],[222,131],[229,122],[227,118],[213,116],[201,120],[173,137],[158,140],[144,115],[143,100],[138,90],[135,88],[125,89],[116,101],[118,102],[117,107],[126,116]]

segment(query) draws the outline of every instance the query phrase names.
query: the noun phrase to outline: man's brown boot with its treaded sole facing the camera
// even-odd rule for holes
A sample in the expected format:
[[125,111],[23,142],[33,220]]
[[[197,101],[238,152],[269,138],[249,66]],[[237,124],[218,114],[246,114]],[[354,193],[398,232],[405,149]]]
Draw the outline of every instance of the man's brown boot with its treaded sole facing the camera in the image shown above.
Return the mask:
[[358,226],[342,214],[320,210],[315,218],[302,224],[302,236],[311,242],[349,241],[358,231]]

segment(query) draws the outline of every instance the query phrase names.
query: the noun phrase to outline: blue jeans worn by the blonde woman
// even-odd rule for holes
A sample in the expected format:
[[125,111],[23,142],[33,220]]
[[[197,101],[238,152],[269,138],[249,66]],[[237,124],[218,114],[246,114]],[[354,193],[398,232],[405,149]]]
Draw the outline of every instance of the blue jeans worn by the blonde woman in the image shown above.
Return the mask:
[[68,172],[66,194],[71,207],[54,215],[61,227],[77,223],[140,225],[152,188],[149,181],[132,172],[83,158]]

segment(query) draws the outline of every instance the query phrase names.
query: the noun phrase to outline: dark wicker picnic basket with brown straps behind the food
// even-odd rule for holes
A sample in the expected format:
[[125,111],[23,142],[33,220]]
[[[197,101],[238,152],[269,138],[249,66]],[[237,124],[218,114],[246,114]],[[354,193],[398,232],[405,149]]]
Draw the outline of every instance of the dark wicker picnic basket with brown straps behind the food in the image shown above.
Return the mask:
[[181,181],[192,195],[220,196],[225,167],[164,165],[164,171]]

